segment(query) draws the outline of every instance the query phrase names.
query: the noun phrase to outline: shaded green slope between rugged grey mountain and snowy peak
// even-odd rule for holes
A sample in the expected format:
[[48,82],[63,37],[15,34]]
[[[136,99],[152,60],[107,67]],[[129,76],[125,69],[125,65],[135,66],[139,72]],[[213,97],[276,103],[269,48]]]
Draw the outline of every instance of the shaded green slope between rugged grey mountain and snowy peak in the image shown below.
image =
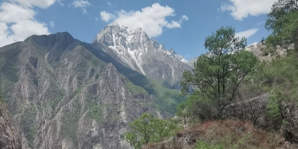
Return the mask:
[[[82,45],[88,49],[92,54],[94,54],[98,59],[106,62],[112,63],[116,69],[130,82],[134,85],[140,86],[144,88],[149,95],[154,95],[157,98],[156,103],[151,106],[158,108],[159,110],[166,111],[173,115],[175,113],[175,107],[178,103],[183,102],[186,98],[181,96],[180,90],[170,89],[170,87],[166,82],[156,81],[154,79],[150,79],[143,74],[132,70],[122,63],[118,62],[116,59],[112,58],[109,54],[104,51],[108,48],[102,44],[87,44],[82,43]],[[130,85],[129,85],[130,86]],[[168,86],[168,87],[165,87]],[[138,89],[131,89],[131,91],[135,92]]]

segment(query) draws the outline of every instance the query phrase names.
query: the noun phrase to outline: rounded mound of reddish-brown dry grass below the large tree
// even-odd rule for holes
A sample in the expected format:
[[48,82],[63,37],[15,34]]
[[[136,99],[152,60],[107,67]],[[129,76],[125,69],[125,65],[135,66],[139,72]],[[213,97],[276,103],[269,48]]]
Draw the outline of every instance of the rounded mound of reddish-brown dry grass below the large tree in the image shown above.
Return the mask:
[[198,140],[212,143],[223,143],[226,148],[275,148],[280,146],[275,134],[268,134],[254,127],[250,122],[240,120],[208,121],[192,124],[188,131],[196,133]]

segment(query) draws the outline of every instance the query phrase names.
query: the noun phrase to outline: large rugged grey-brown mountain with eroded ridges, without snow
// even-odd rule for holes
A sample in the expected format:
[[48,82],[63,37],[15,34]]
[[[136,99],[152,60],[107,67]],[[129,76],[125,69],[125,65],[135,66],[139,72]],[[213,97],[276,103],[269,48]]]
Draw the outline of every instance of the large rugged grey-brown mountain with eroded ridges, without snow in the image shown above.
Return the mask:
[[0,48],[0,87],[23,148],[130,148],[128,122],[144,112],[167,117],[156,106],[167,101],[129,80],[145,76],[101,54],[67,32]]

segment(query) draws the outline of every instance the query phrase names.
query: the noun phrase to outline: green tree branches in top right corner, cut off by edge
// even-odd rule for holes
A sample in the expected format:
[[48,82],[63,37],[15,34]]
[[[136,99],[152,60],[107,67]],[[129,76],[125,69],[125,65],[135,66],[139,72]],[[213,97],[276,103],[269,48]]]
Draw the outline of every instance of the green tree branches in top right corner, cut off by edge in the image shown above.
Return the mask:
[[298,43],[298,1],[279,0],[275,2],[268,14],[266,29],[272,33],[267,42],[273,45],[288,45]]

